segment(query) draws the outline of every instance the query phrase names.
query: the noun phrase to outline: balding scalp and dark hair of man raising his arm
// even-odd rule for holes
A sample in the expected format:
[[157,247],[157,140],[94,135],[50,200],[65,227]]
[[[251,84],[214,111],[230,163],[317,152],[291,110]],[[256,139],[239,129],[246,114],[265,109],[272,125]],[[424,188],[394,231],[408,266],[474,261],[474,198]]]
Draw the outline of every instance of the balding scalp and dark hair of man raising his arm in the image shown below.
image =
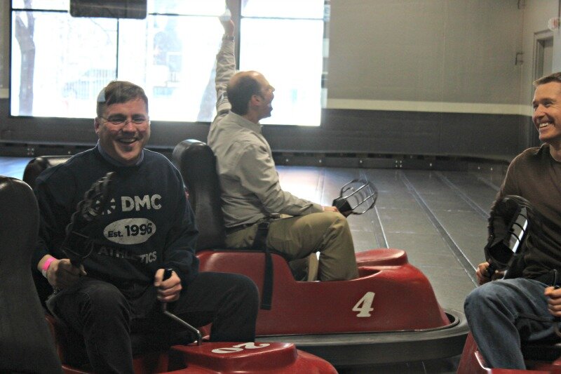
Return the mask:
[[232,105],[231,111],[243,116],[248,113],[249,103],[253,95],[259,95],[262,90],[264,76],[255,71],[238,72],[228,82],[228,100]]

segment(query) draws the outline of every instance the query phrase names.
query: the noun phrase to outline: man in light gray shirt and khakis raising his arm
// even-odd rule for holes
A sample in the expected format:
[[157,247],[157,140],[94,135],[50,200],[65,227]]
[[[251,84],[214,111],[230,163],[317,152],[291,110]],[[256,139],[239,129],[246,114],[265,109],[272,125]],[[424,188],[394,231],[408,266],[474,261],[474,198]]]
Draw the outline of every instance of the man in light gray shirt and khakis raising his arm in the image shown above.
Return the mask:
[[[225,34],[216,67],[217,116],[210,126],[208,145],[217,159],[226,245],[267,246],[292,260],[295,274],[302,265],[299,259],[308,258],[309,271],[303,279],[309,281],[316,279],[312,267],[319,251],[320,281],[356,278],[346,218],[334,206],[320,206],[280,188],[271,147],[259,124],[271,116],[275,89],[258,72],[236,73],[234,23],[228,20],[222,25]],[[264,227],[267,222],[265,236],[259,224]],[[262,238],[261,243],[254,243],[256,236]]]

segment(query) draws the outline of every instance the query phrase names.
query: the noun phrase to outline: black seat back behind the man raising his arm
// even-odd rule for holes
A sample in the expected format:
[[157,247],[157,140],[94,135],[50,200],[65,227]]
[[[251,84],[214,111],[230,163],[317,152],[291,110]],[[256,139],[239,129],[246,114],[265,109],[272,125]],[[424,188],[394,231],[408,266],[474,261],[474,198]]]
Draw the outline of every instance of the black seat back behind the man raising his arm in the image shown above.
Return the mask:
[[198,140],[183,140],[173,149],[172,157],[187,185],[189,203],[195,212],[200,232],[196,250],[224,248],[224,218],[212,149]]

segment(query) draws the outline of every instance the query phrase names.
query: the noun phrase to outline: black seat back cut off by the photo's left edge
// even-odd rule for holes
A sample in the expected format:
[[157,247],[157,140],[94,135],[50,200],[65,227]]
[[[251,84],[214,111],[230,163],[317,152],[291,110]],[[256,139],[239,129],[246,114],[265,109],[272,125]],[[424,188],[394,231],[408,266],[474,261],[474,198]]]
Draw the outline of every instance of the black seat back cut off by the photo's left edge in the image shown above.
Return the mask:
[[0,372],[62,373],[32,279],[39,231],[32,189],[0,175],[0,212]]

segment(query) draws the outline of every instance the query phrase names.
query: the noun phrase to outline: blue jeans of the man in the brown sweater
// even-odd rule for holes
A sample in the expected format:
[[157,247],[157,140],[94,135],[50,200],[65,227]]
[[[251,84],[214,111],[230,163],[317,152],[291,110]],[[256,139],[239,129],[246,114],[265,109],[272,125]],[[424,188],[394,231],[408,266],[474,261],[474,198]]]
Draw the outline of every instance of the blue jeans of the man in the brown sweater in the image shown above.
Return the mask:
[[546,287],[533,279],[504,279],[485,283],[468,295],[466,318],[487,366],[525,369],[521,342],[557,337],[543,295]]

